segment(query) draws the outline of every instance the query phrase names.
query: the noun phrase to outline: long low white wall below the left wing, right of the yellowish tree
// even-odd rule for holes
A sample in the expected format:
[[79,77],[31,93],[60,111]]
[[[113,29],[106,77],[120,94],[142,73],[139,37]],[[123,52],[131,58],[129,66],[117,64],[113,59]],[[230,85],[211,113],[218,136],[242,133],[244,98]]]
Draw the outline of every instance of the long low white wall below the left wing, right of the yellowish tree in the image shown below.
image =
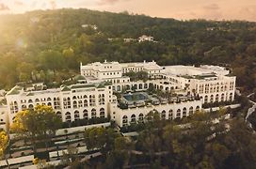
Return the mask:
[[110,126],[110,122],[107,123],[101,123],[101,124],[94,124],[94,125],[88,125],[88,126],[79,126],[79,127],[74,127],[74,128],[66,128],[66,129],[60,129],[56,131],[56,135],[65,135],[66,130],[68,131],[67,133],[73,133],[73,132],[78,132],[78,131],[85,131],[85,129],[90,129],[90,128],[101,128],[101,127],[108,127]]

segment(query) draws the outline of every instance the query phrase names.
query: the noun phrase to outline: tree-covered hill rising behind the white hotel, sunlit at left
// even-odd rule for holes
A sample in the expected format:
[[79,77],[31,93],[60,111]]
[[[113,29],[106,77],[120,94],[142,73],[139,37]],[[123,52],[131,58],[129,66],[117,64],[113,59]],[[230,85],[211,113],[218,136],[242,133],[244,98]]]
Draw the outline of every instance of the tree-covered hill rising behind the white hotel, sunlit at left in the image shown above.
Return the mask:
[[[123,41],[142,35],[158,42]],[[1,88],[19,81],[60,83],[78,72],[79,62],[107,59],[225,64],[233,68],[239,85],[252,90],[256,23],[183,22],[88,9],[32,11],[0,16],[0,57]]]

